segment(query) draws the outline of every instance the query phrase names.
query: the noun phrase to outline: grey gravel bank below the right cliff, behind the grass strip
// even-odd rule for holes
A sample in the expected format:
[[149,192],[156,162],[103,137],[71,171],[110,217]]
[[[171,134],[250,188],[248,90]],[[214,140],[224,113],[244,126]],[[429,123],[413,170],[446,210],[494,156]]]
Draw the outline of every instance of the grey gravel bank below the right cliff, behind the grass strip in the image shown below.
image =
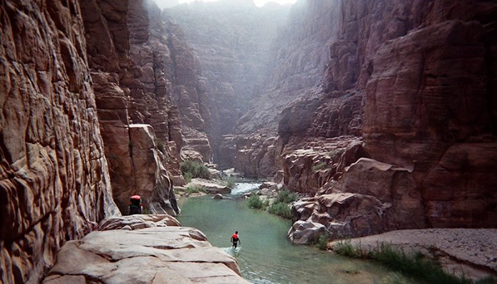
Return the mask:
[[449,273],[472,279],[497,278],[497,229],[405,229],[350,242],[364,251],[377,249],[382,243],[406,253],[420,251],[437,259]]

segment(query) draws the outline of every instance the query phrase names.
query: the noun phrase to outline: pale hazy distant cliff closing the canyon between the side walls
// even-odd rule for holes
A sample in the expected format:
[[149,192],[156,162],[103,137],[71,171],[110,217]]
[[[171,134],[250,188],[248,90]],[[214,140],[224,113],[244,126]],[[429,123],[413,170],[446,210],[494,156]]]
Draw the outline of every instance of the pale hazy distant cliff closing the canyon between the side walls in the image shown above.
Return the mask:
[[[273,63],[271,47],[289,11],[289,6],[277,4],[258,8],[248,0],[199,1],[164,12],[185,31],[185,40],[199,57],[212,158],[221,169],[233,165],[222,136],[234,132],[252,99],[263,98]],[[257,106],[265,106],[263,99]]]

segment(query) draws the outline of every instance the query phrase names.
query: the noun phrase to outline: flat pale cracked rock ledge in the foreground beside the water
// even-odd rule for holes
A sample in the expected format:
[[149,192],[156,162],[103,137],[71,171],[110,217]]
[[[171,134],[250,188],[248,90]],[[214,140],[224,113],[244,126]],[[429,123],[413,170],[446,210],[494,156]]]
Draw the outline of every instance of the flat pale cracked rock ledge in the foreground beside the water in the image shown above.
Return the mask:
[[171,219],[135,215],[105,220],[100,229],[109,224],[122,229],[95,231],[67,242],[43,283],[249,283],[241,278],[234,257],[211,246],[198,229],[169,227]]

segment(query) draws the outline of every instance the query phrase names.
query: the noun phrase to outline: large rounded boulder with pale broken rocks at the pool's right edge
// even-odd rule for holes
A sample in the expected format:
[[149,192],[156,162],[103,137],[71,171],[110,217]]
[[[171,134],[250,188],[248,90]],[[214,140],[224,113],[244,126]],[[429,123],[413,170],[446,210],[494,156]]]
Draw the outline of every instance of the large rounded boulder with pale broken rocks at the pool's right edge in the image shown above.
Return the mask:
[[410,169],[361,158],[329,183],[332,193],[293,204],[294,221],[320,223],[332,239],[426,226],[421,193]]

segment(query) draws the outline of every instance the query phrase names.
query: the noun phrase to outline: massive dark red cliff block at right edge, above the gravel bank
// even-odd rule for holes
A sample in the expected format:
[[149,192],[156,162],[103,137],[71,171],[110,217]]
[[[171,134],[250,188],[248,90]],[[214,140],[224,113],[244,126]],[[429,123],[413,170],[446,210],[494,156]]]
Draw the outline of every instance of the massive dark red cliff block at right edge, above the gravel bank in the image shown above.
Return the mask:
[[488,227],[497,217],[497,177],[491,174],[497,45],[486,17],[497,15],[497,5],[487,10],[491,4],[477,4],[474,16],[458,13],[463,3],[439,5],[454,9],[442,18],[448,21],[436,18],[382,45],[373,57],[366,149],[375,159],[414,168],[430,225]]

